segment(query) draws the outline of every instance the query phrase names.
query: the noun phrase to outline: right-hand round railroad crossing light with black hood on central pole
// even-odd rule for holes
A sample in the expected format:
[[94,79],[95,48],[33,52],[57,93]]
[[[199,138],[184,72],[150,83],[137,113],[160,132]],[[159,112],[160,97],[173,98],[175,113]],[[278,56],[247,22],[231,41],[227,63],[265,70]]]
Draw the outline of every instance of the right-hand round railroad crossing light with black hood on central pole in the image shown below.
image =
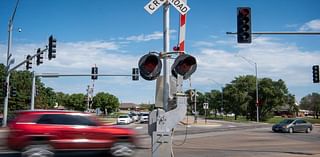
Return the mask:
[[179,55],[171,67],[171,73],[174,77],[182,75],[183,79],[188,79],[197,69],[197,61],[191,55]]

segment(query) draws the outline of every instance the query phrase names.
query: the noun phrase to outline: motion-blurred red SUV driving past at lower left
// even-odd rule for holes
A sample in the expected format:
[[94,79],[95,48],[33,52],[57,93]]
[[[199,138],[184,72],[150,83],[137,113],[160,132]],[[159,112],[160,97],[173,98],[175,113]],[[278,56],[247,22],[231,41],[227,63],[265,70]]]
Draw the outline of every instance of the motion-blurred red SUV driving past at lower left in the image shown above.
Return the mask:
[[73,111],[21,111],[8,124],[8,147],[23,156],[53,156],[58,151],[108,150],[132,156],[135,132],[102,124],[95,116]]

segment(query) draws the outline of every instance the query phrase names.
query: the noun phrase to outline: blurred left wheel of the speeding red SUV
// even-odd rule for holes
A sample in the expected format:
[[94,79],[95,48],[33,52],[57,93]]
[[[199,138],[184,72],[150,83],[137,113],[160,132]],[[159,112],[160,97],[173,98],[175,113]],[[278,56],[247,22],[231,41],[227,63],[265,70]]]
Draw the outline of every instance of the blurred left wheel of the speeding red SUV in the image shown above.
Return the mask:
[[28,145],[22,153],[22,157],[53,157],[53,148],[48,144]]

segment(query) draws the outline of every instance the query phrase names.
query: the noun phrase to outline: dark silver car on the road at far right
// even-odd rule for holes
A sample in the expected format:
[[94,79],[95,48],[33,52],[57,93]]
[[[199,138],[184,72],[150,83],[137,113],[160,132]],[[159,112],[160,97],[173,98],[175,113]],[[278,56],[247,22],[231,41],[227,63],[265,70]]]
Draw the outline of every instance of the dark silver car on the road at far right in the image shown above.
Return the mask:
[[304,119],[284,119],[280,123],[272,126],[273,132],[306,132],[312,131],[312,124],[305,121]]

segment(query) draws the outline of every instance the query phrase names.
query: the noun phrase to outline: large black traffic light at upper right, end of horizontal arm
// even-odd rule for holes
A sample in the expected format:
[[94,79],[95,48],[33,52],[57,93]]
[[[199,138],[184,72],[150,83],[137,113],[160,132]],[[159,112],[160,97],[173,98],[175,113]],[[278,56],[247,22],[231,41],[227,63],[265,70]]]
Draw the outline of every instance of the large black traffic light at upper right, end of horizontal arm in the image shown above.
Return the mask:
[[251,43],[251,8],[237,8],[238,43]]

